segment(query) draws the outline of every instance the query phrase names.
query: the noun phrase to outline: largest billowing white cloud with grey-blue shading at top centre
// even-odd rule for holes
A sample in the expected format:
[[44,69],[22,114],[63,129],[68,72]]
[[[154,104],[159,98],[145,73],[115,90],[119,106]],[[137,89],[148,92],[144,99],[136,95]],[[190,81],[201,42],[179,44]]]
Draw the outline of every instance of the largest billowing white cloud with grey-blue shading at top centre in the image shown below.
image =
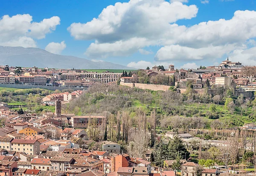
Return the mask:
[[195,5],[187,6],[180,2],[130,0],[108,6],[90,22],[71,24],[68,31],[77,40],[95,40],[86,51],[88,57],[129,55],[145,46],[157,44],[158,39],[161,42],[167,31],[174,34],[170,23],[191,19],[197,12]]

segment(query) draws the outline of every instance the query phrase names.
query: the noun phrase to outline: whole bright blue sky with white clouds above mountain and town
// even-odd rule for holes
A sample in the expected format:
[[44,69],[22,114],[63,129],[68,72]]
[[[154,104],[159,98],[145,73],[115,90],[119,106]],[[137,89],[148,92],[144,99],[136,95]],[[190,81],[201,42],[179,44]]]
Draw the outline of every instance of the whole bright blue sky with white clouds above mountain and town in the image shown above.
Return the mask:
[[227,57],[256,64],[256,0],[8,0],[0,8],[0,46],[135,68]]

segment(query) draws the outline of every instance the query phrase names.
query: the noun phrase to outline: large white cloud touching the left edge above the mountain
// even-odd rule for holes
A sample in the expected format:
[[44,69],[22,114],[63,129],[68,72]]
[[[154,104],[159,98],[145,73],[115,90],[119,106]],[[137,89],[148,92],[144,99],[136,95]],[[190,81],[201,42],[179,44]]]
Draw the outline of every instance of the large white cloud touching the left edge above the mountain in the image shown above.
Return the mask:
[[42,39],[60,24],[59,17],[51,17],[41,22],[32,22],[29,14],[17,14],[0,18],[0,45],[36,47],[34,38]]

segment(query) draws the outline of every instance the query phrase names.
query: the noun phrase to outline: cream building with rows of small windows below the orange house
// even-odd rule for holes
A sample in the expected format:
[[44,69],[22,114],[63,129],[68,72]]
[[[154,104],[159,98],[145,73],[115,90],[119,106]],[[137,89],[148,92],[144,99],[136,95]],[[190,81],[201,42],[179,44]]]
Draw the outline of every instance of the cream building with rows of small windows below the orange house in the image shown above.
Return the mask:
[[40,154],[40,142],[30,139],[13,139],[11,141],[11,150],[16,152],[25,152],[30,155]]

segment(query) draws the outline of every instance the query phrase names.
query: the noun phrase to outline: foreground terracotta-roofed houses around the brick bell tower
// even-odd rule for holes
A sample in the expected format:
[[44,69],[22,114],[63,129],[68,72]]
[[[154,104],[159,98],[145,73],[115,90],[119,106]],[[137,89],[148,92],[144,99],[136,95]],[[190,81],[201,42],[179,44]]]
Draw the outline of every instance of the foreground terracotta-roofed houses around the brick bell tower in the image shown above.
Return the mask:
[[[112,141],[102,141],[98,150],[85,150],[90,142],[85,130],[88,122],[97,119],[100,127],[105,116],[62,114],[60,107],[61,101],[55,100],[55,113],[2,117],[5,126],[0,128],[0,176],[195,176],[198,164],[191,158],[180,160],[181,170],[176,173],[171,169],[176,160],[165,160],[162,167],[155,167],[150,161],[151,149],[142,158],[122,153],[120,144]],[[180,136],[184,141],[193,138],[176,132],[165,136]],[[227,145],[222,141],[205,142]],[[204,168],[202,176],[216,176],[220,169]]]

